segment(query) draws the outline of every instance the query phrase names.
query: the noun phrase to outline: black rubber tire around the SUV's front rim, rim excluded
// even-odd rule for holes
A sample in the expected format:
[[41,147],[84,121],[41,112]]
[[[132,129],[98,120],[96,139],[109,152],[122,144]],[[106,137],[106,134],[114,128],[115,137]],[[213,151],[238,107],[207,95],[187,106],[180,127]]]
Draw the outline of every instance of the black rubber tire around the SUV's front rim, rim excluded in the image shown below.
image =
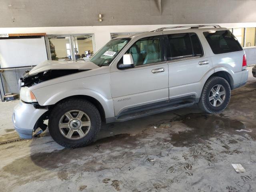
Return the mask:
[[[91,121],[90,130],[88,133],[80,139],[72,140],[62,135],[59,129],[59,122],[62,116],[71,110],[80,110],[86,113]],[[101,118],[98,109],[91,103],[83,99],[73,98],[68,99],[57,104],[50,112],[48,128],[50,135],[61,146],[66,148],[78,148],[84,147],[92,143],[96,134],[101,128]]]

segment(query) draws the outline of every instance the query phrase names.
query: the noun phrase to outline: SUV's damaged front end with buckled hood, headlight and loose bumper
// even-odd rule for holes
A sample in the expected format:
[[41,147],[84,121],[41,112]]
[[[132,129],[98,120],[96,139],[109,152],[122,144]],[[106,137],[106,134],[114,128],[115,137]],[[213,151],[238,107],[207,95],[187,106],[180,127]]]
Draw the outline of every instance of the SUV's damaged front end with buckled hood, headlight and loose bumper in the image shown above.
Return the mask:
[[[21,138],[32,138],[42,133],[47,128],[47,121],[54,105],[41,106],[38,98],[33,93],[33,87],[40,88],[41,82],[100,68],[92,62],[60,62],[45,61],[38,64],[30,71],[26,71],[19,80],[20,102],[13,112],[13,123]],[[67,80],[70,78],[66,77]],[[76,78],[76,76],[74,76]],[[56,80],[58,82],[58,80]],[[52,81],[54,84],[54,81]],[[44,86],[44,83],[42,83]],[[42,93],[43,94],[43,93]]]

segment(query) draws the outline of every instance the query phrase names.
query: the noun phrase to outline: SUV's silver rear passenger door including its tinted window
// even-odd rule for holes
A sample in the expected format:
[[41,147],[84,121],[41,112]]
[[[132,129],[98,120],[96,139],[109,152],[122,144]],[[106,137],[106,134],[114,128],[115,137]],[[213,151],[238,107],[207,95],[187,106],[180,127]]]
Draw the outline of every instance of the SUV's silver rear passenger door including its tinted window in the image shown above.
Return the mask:
[[200,80],[212,69],[196,33],[165,34],[169,67],[169,98],[200,97]]

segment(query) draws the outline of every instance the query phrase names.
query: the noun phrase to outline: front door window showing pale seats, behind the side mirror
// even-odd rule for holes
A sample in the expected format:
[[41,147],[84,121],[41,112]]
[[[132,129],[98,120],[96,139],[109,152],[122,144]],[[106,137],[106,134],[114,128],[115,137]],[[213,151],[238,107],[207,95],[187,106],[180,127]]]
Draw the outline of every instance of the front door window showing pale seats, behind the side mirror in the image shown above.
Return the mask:
[[146,37],[135,42],[126,53],[132,54],[135,66],[162,61],[160,37]]

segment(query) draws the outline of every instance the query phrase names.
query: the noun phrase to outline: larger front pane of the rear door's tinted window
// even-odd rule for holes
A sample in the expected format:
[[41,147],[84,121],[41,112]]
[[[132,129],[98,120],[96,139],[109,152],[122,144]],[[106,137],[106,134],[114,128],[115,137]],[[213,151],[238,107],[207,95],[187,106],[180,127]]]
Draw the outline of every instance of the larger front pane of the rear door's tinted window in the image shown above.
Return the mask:
[[173,59],[192,57],[192,45],[188,33],[169,34],[171,55]]

